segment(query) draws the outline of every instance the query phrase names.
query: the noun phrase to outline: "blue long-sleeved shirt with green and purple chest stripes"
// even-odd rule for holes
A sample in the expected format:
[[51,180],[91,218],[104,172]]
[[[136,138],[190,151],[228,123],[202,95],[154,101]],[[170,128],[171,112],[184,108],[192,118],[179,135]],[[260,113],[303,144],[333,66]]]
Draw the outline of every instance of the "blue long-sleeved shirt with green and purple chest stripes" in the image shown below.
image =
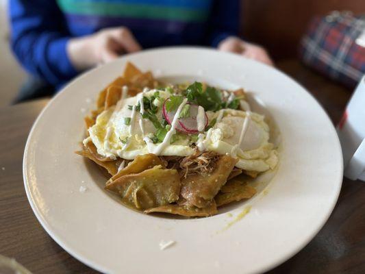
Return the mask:
[[123,25],[144,49],[215,47],[238,34],[239,10],[238,0],[12,0],[11,45],[29,73],[59,87],[77,75],[70,38]]

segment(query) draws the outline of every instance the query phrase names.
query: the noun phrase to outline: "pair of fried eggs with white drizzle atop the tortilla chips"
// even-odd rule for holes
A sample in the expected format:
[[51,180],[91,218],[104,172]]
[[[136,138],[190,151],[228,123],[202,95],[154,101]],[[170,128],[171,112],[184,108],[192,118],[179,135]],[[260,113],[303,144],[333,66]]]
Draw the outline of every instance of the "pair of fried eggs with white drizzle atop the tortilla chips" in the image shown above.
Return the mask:
[[[153,138],[157,129],[152,121],[142,118],[141,110],[137,110],[136,105],[143,96],[151,98],[156,91],[149,90],[135,97],[121,99],[114,107],[101,112],[95,125],[88,129],[89,137],[84,142],[92,141],[100,155],[111,159],[120,157],[133,160],[137,155],[155,151],[159,144],[147,140]],[[153,105],[157,108],[155,116],[162,120],[162,104],[171,93],[164,90],[158,92],[159,98],[153,101]],[[212,128],[199,134],[198,140],[194,134],[175,134],[177,138],[164,146],[159,155],[186,157],[192,155],[197,146],[220,154],[228,153],[238,158],[238,168],[247,171],[262,172],[275,168],[277,152],[269,142],[270,129],[264,116],[232,109],[206,114],[208,121],[217,120]],[[247,129],[242,138],[242,127],[248,115]]]

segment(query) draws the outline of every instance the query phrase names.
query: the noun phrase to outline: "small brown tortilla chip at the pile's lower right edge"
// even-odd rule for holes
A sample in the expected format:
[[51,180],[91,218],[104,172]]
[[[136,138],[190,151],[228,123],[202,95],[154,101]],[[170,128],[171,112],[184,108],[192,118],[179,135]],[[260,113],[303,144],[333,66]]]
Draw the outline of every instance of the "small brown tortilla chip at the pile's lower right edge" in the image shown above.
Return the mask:
[[241,182],[238,179],[231,179],[218,192],[216,197],[217,206],[223,206],[227,203],[249,199],[256,194],[255,188],[249,186],[247,182]]

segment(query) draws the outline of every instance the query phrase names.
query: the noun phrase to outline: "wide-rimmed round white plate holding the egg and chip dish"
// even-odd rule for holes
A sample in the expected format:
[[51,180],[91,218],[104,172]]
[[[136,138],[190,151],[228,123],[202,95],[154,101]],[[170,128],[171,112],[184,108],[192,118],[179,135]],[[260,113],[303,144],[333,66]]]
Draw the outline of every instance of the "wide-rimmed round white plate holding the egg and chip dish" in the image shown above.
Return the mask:
[[[128,61],[157,77],[242,86],[262,99],[282,136],[268,189],[227,212],[174,219],[134,212],[103,190],[105,177],[73,151],[84,136],[83,110]],[[342,153],[327,114],[279,71],[230,53],[167,48],[127,55],[66,86],[38,117],[25,148],[29,203],[49,235],[72,256],[108,273],[257,273],[303,248],[327,221],[342,182]],[[86,186],[86,192],[79,192]],[[251,206],[249,214],[231,225]],[[160,251],[161,240],[176,244]]]

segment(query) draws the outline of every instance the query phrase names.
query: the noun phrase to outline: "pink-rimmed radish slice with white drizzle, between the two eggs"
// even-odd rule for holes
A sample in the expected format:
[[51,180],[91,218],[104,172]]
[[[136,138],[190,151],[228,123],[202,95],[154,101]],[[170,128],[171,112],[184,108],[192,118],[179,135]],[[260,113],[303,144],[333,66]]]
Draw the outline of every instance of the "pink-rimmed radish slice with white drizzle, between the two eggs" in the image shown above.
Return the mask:
[[[168,99],[166,99],[167,101]],[[165,104],[166,101],[164,102],[164,105],[162,107],[162,113],[164,114],[164,118],[166,119],[167,123],[169,123],[171,125],[171,123],[173,123],[173,119],[174,116],[176,114],[176,110],[173,112],[167,112]],[[193,103],[188,103],[190,105],[190,115],[189,117],[186,118],[180,118],[178,120],[178,124],[176,129],[179,132],[185,132],[188,134],[194,134],[194,133],[198,133],[198,123],[197,123],[197,115],[198,115],[198,109],[199,109],[199,105],[195,105]],[[207,118],[207,114],[204,112],[204,117],[205,117],[205,127],[207,127],[208,125],[208,118]]]

